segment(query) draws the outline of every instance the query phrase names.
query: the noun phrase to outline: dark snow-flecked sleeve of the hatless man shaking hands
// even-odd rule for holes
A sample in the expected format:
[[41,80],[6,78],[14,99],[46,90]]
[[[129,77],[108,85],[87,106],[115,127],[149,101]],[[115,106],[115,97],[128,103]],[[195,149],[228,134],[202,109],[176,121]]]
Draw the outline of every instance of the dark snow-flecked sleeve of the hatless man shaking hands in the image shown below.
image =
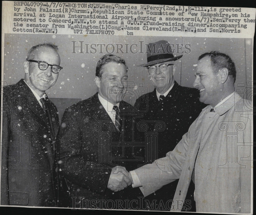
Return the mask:
[[[97,164],[97,158],[93,155],[84,157],[82,150],[86,147],[88,140],[82,137],[81,128],[75,111],[70,108],[66,109],[60,126],[58,142],[60,145],[60,169],[61,173],[69,181],[79,185],[92,192],[104,195],[111,169],[108,168],[92,168],[91,165]],[[88,127],[88,135],[90,128]],[[95,140],[98,141],[98,140]],[[94,147],[94,144],[90,144]],[[98,155],[98,148],[95,148],[95,155]],[[96,160],[95,160],[96,159]],[[96,163],[95,163],[96,162]]]

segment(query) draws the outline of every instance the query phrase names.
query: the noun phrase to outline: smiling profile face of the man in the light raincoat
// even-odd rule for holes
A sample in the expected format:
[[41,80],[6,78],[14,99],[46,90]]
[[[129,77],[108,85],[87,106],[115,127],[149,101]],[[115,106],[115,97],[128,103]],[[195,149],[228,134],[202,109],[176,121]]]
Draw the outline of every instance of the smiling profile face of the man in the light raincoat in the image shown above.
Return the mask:
[[209,56],[198,61],[195,76],[193,86],[200,91],[200,102],[215,107],[222,99],[221,77],[219,72],[214,73]]

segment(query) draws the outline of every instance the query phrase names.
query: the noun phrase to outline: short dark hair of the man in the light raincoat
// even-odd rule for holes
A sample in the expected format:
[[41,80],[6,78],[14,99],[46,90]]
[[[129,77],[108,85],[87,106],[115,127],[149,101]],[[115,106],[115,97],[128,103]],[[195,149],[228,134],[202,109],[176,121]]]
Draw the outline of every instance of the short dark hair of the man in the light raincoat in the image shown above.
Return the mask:
[[222,68],[228,69],[228,75],[232,76],[234,82],[236,81],[236,67],[232,59],[224,54],[220,53],[219,51],[211,51],[204,53],[199,56],[198,60],[201,60],[202,58],[209,56],[211,59],[211,67],[214,70],[214,72],[218,72]]

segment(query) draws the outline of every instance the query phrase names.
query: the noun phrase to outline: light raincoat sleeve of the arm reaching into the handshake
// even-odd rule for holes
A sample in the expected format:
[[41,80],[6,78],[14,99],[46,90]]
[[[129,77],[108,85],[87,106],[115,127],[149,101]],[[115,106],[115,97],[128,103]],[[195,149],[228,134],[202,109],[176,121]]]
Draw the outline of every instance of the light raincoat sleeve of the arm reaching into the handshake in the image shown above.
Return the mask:
[[180,177],[182,166],[186,160],[193,126],[194,123],[189,128],[189,131],[183,135],[174,150],[166,154],[166,157],[159,158],[152,164],[135,169],[145,193],[152,193]]

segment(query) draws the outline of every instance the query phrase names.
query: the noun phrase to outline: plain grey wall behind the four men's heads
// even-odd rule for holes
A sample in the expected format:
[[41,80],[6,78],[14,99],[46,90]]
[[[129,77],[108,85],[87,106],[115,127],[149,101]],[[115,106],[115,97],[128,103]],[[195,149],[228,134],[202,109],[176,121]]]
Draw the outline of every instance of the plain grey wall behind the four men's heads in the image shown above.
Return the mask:
[[[16,83],[24,78],[23,62],[26,59],[27,51],[32,46],[44,42],[51,42],[59,46],[60,66],[63,69],[56,84],[47,91],[49,98],[83,100],[97,92],[94,82],[95,68],[99,58],[106,53],[105,48],[102,49],[103,53],[98,53],[99,48],[95,54],[79,53],[80,48],[75,49],[77,53],[72,53],[73,43],[71,41],[77,41],[76,46],[80,45],[78,41],[84,41],[84,44],[123,44],[124,47],[124,44],[138,44],[138,50],[140,47],[139,41],[144,41],[144,52],[146,51],[145,44],[158,40],[167,40],[172,44],[190,44],[191,52],[185,53],[182,58],[175,61],[177,68],[174,79],[182,86],[193,86],[197,58],[201,54],[213,50],[228,54],[234,61],[237,69],[236,84],[245,83],[247,85],[248,81],[252,80],[252,39],[31,34],[5,34],[4,39],[4,71],[2,71],[2,74],[3,80],[7,84]],[[109,48],[109,51],[111,51],[111,46]],[[183,50],[185,49],[183,48]],[[83,51],[86,51],[85,46]],[[137,67],[137,65],[147,62],[146,53],[133,54],[129,51],[129,53],[116,55],[125,59],[129,68],[129,81],[134,81],[136,86],[139,86],[140,83],[143,84],[147,87],[148,92],[153,91],[154,87],[148,78],[147,69]],[[174,55],[181,54],[174,53]],[[133,103],[135,98],[127,96],[125,100]]]

